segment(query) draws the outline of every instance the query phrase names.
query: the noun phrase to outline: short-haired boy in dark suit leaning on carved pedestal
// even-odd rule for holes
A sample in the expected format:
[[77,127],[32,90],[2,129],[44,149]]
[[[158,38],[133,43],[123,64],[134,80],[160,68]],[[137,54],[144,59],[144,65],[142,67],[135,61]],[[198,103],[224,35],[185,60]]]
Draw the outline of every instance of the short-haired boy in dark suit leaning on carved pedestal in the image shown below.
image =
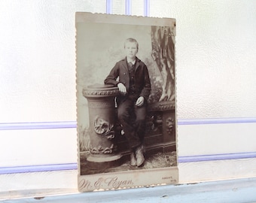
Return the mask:
[[120,91],[117,96],[117,117],[130,144],[131,165],[141,166],[145,161],[142,144],[151,82],[147,66],[136,57],[138,42],[133,38],[126,39],[124,50],[126,58],[114,65],[104,82],[117,86]]

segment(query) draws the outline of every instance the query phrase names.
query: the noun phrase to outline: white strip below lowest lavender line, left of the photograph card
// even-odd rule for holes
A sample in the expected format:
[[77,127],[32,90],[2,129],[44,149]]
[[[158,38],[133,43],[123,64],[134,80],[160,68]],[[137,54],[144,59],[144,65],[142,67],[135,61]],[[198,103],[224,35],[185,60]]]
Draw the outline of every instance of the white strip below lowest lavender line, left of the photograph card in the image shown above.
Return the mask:
[[0,200],[78,192],[77,170],[1,174]]

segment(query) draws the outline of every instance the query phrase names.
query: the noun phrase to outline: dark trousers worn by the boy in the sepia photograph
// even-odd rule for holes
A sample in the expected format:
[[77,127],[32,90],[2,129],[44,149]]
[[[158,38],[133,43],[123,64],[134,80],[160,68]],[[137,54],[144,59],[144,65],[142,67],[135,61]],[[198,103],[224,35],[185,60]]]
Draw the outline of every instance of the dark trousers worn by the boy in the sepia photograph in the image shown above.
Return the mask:
[[131,150],[143,143],[145,135],[146,105],[135,106],[136,99],[126,98],[117,108],[117,116]]

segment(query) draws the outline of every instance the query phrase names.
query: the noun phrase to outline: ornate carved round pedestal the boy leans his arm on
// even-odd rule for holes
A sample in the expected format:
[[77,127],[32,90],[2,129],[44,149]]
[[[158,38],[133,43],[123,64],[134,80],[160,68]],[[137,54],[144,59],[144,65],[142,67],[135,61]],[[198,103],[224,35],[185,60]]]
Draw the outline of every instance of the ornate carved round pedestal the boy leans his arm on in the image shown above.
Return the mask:
[[118,88],[111,85],[92,85],[83,90],[87,98],[90,119],[90,168],[102,169],[117,165],[121,155],[114,143],[114,97]]

